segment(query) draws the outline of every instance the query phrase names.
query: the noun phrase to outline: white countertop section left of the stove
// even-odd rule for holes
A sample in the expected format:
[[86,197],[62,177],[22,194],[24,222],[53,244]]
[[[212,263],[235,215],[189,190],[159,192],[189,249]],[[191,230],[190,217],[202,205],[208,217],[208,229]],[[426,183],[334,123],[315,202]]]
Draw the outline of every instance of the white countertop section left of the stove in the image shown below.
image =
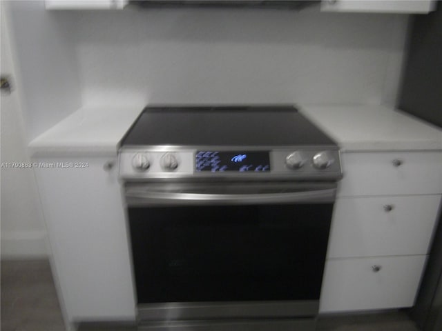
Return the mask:
[[117,154],[119,141],[137,119],[143,106],[88,106],[32,140],[32,157]]

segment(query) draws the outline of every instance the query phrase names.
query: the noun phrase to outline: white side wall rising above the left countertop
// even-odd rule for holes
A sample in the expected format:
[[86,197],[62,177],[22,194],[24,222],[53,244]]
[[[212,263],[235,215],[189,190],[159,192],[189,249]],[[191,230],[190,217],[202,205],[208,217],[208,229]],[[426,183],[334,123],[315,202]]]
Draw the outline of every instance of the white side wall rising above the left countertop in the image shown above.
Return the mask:
[[29,142],[81,106],[71,38],[75,12],[48,11],[44,1],[1,2],[12,32],[12,56]]

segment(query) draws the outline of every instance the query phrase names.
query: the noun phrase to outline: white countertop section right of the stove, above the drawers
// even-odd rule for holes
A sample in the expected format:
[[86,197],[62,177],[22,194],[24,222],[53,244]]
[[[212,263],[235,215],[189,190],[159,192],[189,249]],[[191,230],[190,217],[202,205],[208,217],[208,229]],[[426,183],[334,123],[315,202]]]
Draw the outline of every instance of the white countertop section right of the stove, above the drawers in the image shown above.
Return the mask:
[[343,152],[442,150],[442,129],[385,106],[301,106]]

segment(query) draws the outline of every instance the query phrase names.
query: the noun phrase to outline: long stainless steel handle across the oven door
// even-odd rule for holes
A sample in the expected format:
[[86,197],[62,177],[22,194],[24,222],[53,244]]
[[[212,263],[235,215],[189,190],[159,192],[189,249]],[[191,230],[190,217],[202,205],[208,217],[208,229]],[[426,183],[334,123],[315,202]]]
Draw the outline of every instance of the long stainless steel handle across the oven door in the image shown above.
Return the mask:
[[336,188],[301,192],[275,192],[260,194],[211,194],[185,192],[158,192],[126,189],[126,203],[137,205],[214,205],[214,204],[267,204],[267,203],[330,203],[334,202]]

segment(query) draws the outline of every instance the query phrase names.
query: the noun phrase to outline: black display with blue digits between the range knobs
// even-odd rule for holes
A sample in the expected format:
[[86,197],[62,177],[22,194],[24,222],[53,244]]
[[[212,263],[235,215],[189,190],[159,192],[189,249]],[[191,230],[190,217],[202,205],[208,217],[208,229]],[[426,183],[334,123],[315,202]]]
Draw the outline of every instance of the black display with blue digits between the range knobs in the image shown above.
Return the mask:
[[269,172],[269,152],[199,150],[195,156],[195,170],[211,172]]

